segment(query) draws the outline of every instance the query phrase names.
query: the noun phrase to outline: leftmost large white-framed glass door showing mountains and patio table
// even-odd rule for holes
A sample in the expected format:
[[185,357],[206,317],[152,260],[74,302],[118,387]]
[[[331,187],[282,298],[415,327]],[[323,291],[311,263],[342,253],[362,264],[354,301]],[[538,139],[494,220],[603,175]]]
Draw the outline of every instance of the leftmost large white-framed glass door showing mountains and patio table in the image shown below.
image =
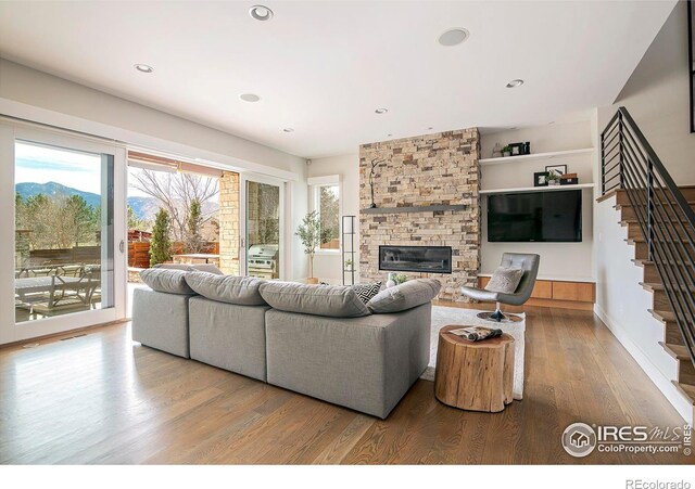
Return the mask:
[[0,131],[0,342],[122,319],[125,150],[24,126]]

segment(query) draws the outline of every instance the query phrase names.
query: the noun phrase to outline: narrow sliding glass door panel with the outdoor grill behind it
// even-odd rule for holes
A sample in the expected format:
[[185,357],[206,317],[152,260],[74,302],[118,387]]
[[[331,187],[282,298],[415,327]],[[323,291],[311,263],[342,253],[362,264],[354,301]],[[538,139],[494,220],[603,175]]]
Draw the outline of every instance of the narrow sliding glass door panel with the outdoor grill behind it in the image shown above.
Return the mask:
[[242,273],[260,279],[282,279],[283,184],[274,180],[242,179]]

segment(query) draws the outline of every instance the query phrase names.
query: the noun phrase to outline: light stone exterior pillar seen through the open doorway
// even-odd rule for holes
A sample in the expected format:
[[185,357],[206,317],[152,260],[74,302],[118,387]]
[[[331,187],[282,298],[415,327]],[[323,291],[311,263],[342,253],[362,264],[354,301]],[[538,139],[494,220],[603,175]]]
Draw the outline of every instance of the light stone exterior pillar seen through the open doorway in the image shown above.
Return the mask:
[[219,178],[219,269],[239,274],[239,173],[223,171]]

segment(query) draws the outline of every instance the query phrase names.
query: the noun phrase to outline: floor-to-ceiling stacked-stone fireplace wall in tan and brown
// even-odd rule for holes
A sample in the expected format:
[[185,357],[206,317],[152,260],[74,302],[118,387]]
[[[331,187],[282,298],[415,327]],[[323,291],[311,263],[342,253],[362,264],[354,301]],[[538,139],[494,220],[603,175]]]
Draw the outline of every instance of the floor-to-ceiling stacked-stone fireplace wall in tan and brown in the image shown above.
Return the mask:
[[464,210],[359,215],[361,281],[386,281],[379,245],[451,246],[453,273],[417,274],[442,283],[440,299],[466,301],[462,285],[477,286],[480,263],[480,134],[477,128],[364,144],[359,147],[359,208],[371,203],[374,158],[377,207],[466,205]]

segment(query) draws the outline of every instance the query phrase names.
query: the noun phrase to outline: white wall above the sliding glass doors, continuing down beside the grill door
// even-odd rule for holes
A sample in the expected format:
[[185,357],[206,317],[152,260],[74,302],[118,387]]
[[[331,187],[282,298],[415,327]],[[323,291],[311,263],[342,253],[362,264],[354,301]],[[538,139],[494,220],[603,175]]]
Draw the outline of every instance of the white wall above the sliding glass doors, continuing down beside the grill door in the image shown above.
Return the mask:
[[[0,114],[287,180],[288,231],[306,214],[305,159],[0,59]],[[9,204],[11,205],[11,204]],[[288,279],[306,276],[291,234]]]

